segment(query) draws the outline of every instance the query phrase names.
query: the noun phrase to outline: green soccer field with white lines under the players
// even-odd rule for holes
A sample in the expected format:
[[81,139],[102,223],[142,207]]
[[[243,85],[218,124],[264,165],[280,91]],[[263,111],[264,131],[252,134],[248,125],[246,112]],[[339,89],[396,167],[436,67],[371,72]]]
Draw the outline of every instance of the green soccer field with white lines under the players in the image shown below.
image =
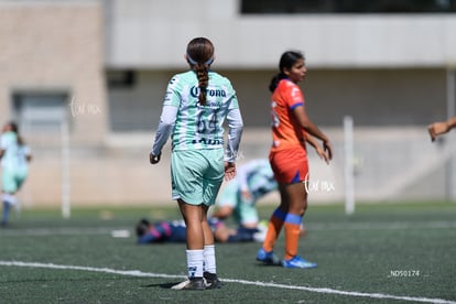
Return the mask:
[[[271,206],[260,206],[263,219]],[[264,267],[260,243],[217,245],[220,290],[174,291],[185,245],[137,246],[140,217],[170,208],[24,210],[0,230],[0,303],[456,303],[456,203],[311,206],[300,253],[316,269]],[[112,237],[129,230],[128,238]],[[282,254],[283,235],[276,253]]]

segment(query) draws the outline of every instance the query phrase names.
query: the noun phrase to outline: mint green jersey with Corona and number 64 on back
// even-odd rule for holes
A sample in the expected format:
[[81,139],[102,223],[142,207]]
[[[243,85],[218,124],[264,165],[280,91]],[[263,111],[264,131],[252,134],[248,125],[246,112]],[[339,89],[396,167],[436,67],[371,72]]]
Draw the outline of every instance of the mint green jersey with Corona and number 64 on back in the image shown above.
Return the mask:
[[224,121],[228,112],[239,109],[236,91],[228,78],[209,72],[206,105],[198,102],[199,87],[196,73],[175,75],[169,83],[163,106],[177,107],[172,133],[172,149],[222,149]]

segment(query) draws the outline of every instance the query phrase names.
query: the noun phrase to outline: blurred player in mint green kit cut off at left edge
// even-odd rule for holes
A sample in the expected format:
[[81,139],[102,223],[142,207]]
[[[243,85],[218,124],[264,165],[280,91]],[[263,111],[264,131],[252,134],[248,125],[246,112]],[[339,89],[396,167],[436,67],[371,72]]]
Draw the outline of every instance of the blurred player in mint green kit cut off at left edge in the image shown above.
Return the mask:
[[0,159],[2,167],[2,200],[3,215],[1,226],[9,222],[11,206],[18,206],[15,194],[21,188],[29,173],[29,162],[32,159],[30,148],[19,134],[15,122],[3,126],[0,139]]

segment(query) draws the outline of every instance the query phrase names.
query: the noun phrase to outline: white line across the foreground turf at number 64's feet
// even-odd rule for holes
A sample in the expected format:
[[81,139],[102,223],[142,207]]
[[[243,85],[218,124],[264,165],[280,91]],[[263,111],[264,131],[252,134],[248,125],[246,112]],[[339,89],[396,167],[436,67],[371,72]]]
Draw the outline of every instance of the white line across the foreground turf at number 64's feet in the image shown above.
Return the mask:
[[[59,264],[53,264],[53,263],[36,263],[36,262],[20,262],[20,261],[0,261],[0,265],[47,268],[47,269],[63,269],[63,270],[84,270],[84,271],[93,271],[93,272],[105,272],[105,273],[113,273],[113,274],[121,274],[121,275],[146,276],[146,278],[166,278],[166,279],[184,279],[184,278],[186,278],[184,275],[172,275],[172,274],[164,274],[164,273],[150,273],[150,272],[142,272],[142,271],[139,271],[139,270],[115,270],[115,269],[109,269],[109,268],[59,265]],[[316,293],[340,294],[340,295],[358,296],[358,297],[389,298],[389,300],[402,300],[402,301],[422,302],[422,303],[437,303],[437,304],[456,304],[455,301],[448,301],[448,300],[443,300],[443,298],[400,296],[400,295],[391,295],[391,294],[382,294],[382,293],[349,292],[349,291],[339,291],[339,290],[333,290],[333,289],[284,285],[284,284],[265,283],[265,282],[259,282],[259,281],[246,281],[246,280],[222,279],[221,281],[222,282],[230,282],[230,283],[246,284],[246,285],[257,285],[257,286],[263,286],[263,287],[301,290],[301,291],[308,291],[308,292],[316,292]]]

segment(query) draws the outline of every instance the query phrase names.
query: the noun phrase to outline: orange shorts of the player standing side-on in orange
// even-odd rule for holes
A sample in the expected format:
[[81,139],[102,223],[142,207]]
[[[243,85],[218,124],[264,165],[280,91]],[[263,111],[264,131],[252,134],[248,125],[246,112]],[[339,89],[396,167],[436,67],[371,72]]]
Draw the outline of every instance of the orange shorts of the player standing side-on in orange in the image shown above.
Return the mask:
[[295,184],[308,180],[307,153],[301,146],[271,152],[269,161],[279,183]]

